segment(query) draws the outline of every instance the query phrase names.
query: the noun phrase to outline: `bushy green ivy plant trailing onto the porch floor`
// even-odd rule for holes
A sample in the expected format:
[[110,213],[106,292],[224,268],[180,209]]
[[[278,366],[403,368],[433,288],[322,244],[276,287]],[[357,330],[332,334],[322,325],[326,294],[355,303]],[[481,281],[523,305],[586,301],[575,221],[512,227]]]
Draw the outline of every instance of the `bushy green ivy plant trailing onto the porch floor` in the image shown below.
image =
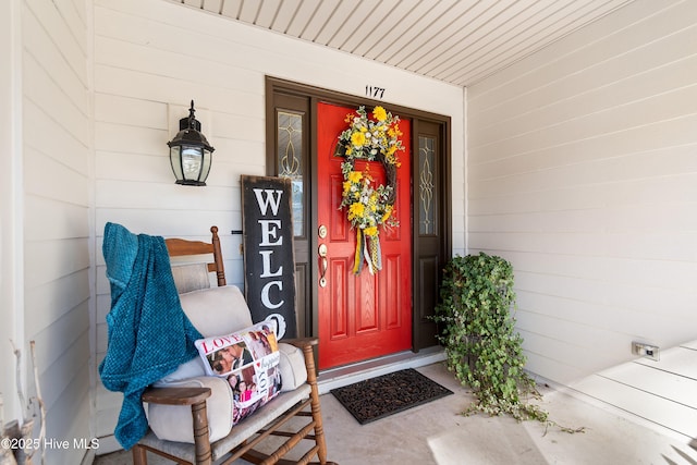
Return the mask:
[[541,395],[524,370],[523,338],[514,331],[513,266],[485,253],[456,256],[445,266],[440,298],[433,319],[448,368],[476,397],[464,414],[508,414],[555,425],[529,402]]

